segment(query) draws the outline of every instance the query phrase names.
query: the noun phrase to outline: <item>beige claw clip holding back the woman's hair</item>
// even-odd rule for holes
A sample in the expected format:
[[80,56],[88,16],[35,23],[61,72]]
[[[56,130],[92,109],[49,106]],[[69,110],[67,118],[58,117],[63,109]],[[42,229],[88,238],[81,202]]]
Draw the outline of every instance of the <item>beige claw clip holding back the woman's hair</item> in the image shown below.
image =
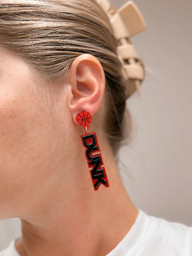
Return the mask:
[[[97,3],[107,13],[114,36],[118,40],[117,54],[123,64],[123,76],[134,83],[134,88],[140,92],[140,84],[145,76],[144,66],[129,38],[145,30],[145,21],[132,1],[128,1],[118,10],[108,0],[97,0]],[[130,96],[130,88],[127,91],[127,96]]]

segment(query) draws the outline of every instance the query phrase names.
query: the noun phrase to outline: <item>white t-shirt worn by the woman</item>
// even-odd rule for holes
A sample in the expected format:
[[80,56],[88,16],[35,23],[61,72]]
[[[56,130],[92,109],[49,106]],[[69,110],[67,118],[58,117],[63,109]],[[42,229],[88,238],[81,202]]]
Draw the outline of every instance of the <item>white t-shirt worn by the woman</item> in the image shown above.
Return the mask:
[[[15,241],[0,256],[20,256]],[[192,227],[139,210],[127,235],[106,256],[192,256]]]

